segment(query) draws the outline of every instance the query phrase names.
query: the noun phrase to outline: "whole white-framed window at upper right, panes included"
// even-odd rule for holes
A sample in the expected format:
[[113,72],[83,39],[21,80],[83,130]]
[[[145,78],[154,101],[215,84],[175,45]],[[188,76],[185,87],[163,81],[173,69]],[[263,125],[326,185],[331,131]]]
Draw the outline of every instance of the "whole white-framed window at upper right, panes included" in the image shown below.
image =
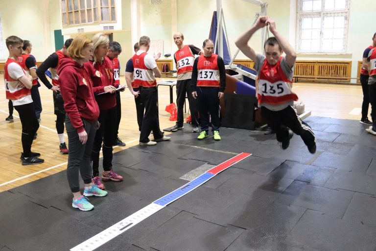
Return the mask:
[[346,52],[350,0],[298,0],[299,52]]

